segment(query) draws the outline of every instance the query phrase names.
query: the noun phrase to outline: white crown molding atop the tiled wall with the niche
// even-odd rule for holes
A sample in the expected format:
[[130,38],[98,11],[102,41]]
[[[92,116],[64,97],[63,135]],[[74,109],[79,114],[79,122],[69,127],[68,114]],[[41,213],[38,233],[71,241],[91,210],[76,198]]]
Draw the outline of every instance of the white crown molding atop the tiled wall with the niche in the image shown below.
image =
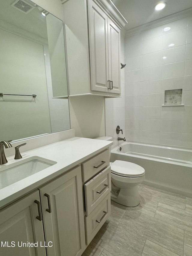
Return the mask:
[[181,11],[181,12],[178,12],[178,13],[175,13],[175,14],[171,14],[171,15],[163,17],[161,19],[143,24],[143,25],[138,26],[136,28],[129,29],[129,30],[126,31],[125,38],[130,37],[131,35],[134,35],[134,34],[142,33],[144,30],[152,29],[156,26],[160,26],[160,25],[163,25],[165,23],[168,23],[168,22],[171,22],[171,21],[174,21],[174,20],[182,19],[182,18],[187,17],[189,15],[192,15],[192,8],[189,8],[189,9],[186,9],[184,11]]

